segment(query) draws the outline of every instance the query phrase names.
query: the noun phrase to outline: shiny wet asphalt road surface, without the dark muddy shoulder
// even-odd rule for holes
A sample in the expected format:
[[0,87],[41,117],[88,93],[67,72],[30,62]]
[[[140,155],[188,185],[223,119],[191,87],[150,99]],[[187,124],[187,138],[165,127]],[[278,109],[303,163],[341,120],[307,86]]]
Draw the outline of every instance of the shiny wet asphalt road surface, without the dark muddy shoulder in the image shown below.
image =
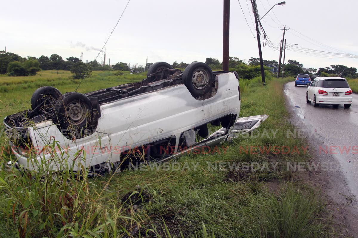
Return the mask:
[[[295,87],[294,82],[285,85],[286,103],[295,113],[294,123],[298,128],[305,128],[303,131],[307,135],[304,137],[308,136],[308,141],[315,141],[312,146],[321,161],[326,159],[338,165],[333,165],[333,170],[338,169],[336,174],[344,176],[350,193],[357,198],[358,95],[353,94],[350,108],[344,108],[343,105],[333,108],[322,104],[313,107],[313,103],[306,103],[306,91],[306,86]],[[313,137],[312,140],[310,137]]]

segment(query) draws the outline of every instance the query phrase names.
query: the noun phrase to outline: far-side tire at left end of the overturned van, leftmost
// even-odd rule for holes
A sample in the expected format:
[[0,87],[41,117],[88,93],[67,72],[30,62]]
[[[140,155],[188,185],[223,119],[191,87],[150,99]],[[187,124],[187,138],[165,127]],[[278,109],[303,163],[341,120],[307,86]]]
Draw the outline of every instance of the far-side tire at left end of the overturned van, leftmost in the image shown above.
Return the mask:
[[62,96],[61,92],[54,87],[40,87],[32,94],[31,109],[41,113],[42,110],[48,111],[52,108],[57,100]]

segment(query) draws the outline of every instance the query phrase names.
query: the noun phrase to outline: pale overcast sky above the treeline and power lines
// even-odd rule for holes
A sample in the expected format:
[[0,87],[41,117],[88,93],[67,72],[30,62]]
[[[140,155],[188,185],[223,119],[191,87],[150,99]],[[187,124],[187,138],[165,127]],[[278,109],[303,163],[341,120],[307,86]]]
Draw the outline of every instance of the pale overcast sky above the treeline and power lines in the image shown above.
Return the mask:
[[[259,14],[263,16],[280,1],[257,0]],[[240,0],[255,35],[249,2]],[[127,0],[3,1],[0,49],[7,46],[9,52],[23,57],[58,54],[63,59],[83,52],[83,61],[92,61],[126,4]],[[285,24],[291,27],[286,31],[287,46],[357,54],[357,9],[358,1],[286,0],[285,6],[277,5],[263,17],[262,25],[275,45],[280,44],[280,27]],[[146,57],[148,62],[170,64],[205,62],[207,57],[222,61],[222,25],[222,0],[131,0],[106,45],[106,61],[131,65],[144,65]],[[262,49],[263,59],[278,61],[279,51]],[[257,40],[237,0],[231,0],[230,56],[246,61],[258,57]],[[304,67],[358,67],[357,59],[327,59],[287,49],[285,60],[289,59]],[[100,54],[97,61],[102,60]]]

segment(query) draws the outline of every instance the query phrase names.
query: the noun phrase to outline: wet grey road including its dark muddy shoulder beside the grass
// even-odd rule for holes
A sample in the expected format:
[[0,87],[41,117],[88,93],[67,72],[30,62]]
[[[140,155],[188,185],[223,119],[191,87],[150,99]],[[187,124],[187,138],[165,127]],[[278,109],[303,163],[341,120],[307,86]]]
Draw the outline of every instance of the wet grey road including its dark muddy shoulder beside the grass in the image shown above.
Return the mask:
[[[334,203],[334,216],[349,224],[358,237],[358,95],[353,94],[350,108],[322,104],[313,107],[313,103],[306,103],[306,91],[306,86],[295,87],[294,82],[285,85],[291,122],[303,130],[303,137],[308,137],[313,162],[332,164],[323,172],[311,173],[308,180],[325,190]],[[348,203],[336,210],[339,204]]]

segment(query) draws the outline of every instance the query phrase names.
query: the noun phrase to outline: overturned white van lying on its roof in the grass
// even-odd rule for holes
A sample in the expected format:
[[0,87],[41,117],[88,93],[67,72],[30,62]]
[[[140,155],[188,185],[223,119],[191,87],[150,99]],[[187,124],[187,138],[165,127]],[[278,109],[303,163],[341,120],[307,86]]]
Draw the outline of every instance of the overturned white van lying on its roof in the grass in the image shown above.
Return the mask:
[[[60,170],[95,169],[122,164],[129,154],[136,160],[137,152],[160,161],[228,138],[235,123],[235,131],[245,131],[267,117],[238,120],[236,72],[212,72],[201,62],[184,73],[157,62],[141,82],[85,94],[42,87],[31,106],[4,119],[9,135],[15,131],[10,145],[17,162],[31,170],[44,163]],[[210,123],[222,128],[209,136]]]

